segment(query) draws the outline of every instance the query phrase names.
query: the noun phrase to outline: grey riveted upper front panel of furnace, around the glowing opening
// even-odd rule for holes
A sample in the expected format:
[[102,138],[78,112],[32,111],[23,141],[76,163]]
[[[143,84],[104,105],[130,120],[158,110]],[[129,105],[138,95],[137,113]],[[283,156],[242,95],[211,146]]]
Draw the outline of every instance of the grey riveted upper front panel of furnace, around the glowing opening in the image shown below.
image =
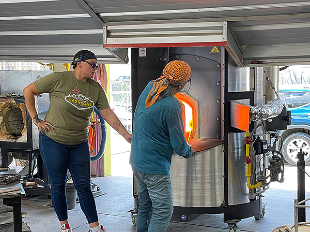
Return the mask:
[[188,95],[199,102],[199,138],[221,138],[221,56],[210,47],[170,48],[170,60],[183,60],[192,70]]

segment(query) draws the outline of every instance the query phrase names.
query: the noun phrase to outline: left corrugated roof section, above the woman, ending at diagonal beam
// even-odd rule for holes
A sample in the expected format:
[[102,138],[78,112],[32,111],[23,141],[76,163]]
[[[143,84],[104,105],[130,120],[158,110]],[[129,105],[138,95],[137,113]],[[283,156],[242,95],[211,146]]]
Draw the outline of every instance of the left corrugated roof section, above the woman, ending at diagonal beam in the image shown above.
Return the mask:
[[127,62],[126,55],[116,57],[103,48],[103,22],[100,26],[80,2],[0,0],[0,60],[62,62],[88,49],[99,62]]

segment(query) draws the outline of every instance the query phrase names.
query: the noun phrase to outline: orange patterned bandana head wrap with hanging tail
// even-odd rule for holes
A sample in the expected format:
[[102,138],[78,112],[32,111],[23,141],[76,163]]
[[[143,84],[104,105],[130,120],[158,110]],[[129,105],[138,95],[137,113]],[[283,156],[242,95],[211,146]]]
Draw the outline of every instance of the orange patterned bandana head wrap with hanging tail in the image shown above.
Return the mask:
[[159,94],[164,91],[169,84],[183,85],[190,77],[192,70],[189,65],[181,60],[172,60],[169,62],[164,70],[161,77],[154,81],[153,87],[151,88],[149,95],[145,100],[145,107],[153,105]]

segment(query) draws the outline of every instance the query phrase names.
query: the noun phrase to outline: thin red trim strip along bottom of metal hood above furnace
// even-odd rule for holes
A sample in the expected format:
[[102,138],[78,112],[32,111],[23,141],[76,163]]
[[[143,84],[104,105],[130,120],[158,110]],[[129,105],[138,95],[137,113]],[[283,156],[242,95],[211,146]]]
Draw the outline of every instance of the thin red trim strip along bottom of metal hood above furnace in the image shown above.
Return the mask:
[[227,42],[197,42],[197,43],[119,43],[103,44],[103,48],[124,48],[124,47],[213,47],[226,46]]

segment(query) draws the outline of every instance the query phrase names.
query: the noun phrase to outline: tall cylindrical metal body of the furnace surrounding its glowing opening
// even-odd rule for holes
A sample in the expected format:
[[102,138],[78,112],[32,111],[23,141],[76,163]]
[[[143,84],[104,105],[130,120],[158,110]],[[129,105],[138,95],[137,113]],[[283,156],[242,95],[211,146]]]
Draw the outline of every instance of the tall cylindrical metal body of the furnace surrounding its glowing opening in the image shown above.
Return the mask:
[[[260,194],[249,194],[245,176],[245,132],[230,126],[229,101],[264,104],[264,72],[263,68],[238,68],[223,47],[218,54],[210,54],[211,49],[147,48],[147,57],[139,57],[138,49],[133,48],[132,108],[136,108],[147,83],[160,76],[168,61],[181,59],[189,63],[192,86],[188,94],[199,102],[199,138],[209,146],[188,160],[172,156],[174,212],[171,220],[188,222],[200,214],[223,213],[230,230],[238,231],[236,223],[241,219],[263,217],[264,206]],[[213,146],[214,142],[219,145]],[[257,161],[261,157],[257,156]],[[263,188],[257,191],[263,192]],[[133,196],[135,208],[130,212],[135,224],[139,205],[135,180]]]

